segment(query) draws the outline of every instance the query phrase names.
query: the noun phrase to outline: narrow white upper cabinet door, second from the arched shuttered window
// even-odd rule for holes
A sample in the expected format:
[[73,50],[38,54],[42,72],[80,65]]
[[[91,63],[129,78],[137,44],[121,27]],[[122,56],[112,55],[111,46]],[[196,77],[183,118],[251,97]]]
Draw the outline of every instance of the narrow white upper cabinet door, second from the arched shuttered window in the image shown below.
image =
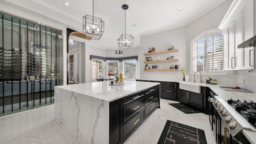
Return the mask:
[[235,68],[235,57],[234,57],[234,24],[231,23],[228,27],[228,68]]

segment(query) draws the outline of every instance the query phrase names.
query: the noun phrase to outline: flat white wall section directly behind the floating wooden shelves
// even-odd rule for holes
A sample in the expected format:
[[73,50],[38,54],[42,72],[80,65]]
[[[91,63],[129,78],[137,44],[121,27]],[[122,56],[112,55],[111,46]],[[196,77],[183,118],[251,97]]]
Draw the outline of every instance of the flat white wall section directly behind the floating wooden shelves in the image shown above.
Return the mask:
[[[169,63],[154,63],[159,64],[160,69],[167,69],[168,64],[179,64],[180,67],[186,66],[186,27],[182,26],[180,28],[174,28],[171,30],[166,30],[164,32],[158,32],[156,34],[150,34],[148,36],[142,36],[140,38],[140,78],[141,79],[159,79],[159,80],[178,80],[179,72],[144,72],[144,64],[146,57],[152,57],[152,60],[156,60],[156,57],[160,56],[160,60],[166,60],[171,56],[174,56],[174,59],[178,59],[178,62],[169,62]],[[154,47],[155,52],[166,51],[168,48],[171,48],[174,45],[174,49],[178,49],[179,52],[167,53],[167,54],[156,54],[144,56],[144,53],[147,53],[149,48]],[[152,64],[148,64],[151,66]],[[180,74],[181,76],[181,74]]]

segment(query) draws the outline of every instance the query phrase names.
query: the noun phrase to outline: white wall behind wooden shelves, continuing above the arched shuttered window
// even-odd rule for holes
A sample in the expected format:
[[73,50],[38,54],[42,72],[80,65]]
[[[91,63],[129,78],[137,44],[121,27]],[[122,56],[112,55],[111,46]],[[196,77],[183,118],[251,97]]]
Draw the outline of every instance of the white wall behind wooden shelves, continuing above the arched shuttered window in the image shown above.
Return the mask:
[[[158,80],[182,80],[183,76],[180,72],[144,72],[143,68],[145,64],[145,58],[143,53],[148,52],[151,47],[156,48],[156,51],[165,51],[174,45],[174,49],[178,49],[179,52],[151,55],[154,60],[157,56],[160,56],[161,60],[165,60],[170,56],[174,56],[175,59],[179,59],[178,62],[169,62],[169,64],[179,64],[180,68],[185,67],[186,71],[190,70],[190,58],[191,58],[191,47],[190,43],[192,39],[200,34],[201,32],[217,28],[230,7],[232,0],[220,4],[216,8],[212,9],[208,13],[194,20],[186,26],[142,36],[140,38],[140,78],[141,79],[158,79]],[[152,64],[148,64],[150,66]],[[159,63],[160,69],[166,69],[168,63]]]

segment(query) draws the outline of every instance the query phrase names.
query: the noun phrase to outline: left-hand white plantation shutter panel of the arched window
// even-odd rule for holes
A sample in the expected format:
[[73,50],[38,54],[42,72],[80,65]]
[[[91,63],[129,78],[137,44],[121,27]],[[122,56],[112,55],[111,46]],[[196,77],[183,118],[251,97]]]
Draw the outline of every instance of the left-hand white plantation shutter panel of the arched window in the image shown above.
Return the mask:
[[192,70],[204,71],[204,38],[194,42],[192,46]]

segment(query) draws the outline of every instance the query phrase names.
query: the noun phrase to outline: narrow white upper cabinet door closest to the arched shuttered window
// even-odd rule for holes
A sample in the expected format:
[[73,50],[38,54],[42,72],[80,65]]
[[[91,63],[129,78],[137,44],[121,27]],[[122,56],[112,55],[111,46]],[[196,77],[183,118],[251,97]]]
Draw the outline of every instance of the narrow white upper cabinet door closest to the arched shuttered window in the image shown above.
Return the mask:
[[228,70],[228,30],[223,31],[223,70]]

